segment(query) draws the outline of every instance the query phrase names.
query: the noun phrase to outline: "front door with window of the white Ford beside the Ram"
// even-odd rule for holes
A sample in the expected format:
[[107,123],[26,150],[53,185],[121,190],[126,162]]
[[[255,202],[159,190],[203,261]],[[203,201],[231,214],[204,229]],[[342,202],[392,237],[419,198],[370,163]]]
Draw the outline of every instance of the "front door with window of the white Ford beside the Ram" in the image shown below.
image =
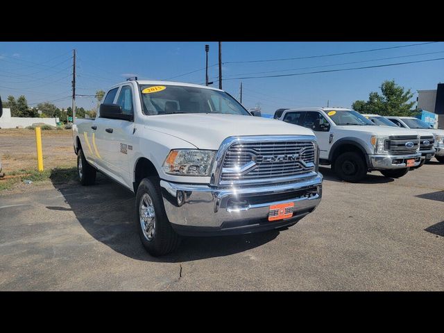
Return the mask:
[[321,112],[307,111],[301,125],[314,131],[319,145],[319,157],[327,160],[332,128],[329,121]]

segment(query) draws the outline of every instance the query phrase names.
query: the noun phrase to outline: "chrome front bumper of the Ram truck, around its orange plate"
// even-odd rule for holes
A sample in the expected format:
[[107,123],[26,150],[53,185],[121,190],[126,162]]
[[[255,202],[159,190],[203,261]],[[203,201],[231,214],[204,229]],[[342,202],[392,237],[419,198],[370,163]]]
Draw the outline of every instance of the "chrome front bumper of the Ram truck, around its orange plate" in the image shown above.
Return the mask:
[[[165,211],[180,234],[248,233],[296,223],[321,202],[323,176],[280,185],[219,188],[160,181]],[[294,203],[293,216],[268,221],[271,205]]]

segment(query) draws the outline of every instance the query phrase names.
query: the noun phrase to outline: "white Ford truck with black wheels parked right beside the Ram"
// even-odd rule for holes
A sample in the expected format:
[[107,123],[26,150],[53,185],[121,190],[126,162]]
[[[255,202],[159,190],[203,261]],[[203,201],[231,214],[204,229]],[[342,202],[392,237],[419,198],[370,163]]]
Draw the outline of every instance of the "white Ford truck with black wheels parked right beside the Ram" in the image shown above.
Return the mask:
[[320,163],[331,164],[348,182],[359,182],[373,170],[399,178],[421,161],[416,131],[375,126],[355,110],[298,108],[285,110],[280,120],[314,130]]

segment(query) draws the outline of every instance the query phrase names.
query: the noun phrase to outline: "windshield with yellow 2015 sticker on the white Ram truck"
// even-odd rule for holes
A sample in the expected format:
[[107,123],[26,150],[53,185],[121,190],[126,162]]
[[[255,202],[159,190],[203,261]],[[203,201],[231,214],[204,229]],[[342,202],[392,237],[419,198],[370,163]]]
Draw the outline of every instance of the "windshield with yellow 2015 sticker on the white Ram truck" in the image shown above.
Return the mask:
[[144,114],[222,113],[250,116],[226,92],[182,85],[139,85]]

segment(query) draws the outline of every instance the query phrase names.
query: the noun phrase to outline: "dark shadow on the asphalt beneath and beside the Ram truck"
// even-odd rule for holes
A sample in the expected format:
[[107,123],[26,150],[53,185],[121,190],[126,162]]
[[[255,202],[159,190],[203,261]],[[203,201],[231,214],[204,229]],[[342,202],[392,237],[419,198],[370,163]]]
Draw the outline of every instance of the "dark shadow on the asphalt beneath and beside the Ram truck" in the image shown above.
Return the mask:
[[[76,214],[80,225],[97,241],[127,257],[150,262],[189,262],[210,257],[223,257],[262,246],[275,239],[272,230],[257,234],[225,237],[189,237],[175,253],[151,257],[143,248],[135,223],[135,196],[98,173],[96,185],[66,185],[53,182],[65,203]],[[50,209],[56,210],[57,207]]]

